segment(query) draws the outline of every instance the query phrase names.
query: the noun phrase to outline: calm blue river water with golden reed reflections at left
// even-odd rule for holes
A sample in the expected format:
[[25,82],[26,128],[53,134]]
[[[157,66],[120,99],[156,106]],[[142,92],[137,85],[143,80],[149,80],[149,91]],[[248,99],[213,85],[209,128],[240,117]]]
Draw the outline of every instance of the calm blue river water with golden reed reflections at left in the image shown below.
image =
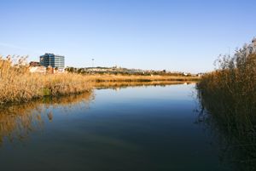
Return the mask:
[[194,87],[106,88],[7,106],[1,170],[230,170],[196,123]]

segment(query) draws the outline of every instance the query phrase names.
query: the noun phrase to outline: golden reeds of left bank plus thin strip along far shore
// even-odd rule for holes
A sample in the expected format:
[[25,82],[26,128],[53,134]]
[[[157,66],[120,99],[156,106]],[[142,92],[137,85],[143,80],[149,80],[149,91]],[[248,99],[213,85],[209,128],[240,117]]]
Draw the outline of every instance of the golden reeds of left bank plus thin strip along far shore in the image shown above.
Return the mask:
[[140,76],[120,74],[30,73],[26,58],[0,56],[0,105],[20,103],[44,96],[79,94],[104,83],[155,83],[196,81],[199,77]]

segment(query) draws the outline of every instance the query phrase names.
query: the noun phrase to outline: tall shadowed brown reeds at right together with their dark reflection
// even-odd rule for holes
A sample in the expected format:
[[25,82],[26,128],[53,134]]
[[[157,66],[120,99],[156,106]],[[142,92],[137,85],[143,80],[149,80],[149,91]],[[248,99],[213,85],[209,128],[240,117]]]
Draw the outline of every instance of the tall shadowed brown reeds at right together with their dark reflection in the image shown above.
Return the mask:
[[241,170],[256,166],[256,54],[251,49],[222,56],[218,69],[197,83],[201,109],[207,110],[200,120],[221,134],[225,158]]

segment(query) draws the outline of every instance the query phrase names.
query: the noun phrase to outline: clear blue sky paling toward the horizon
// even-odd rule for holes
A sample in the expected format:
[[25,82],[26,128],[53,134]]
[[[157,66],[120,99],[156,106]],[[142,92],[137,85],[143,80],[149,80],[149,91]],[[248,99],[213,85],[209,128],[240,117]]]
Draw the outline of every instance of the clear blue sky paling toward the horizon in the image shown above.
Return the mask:
[[256,36],[255,0],[0,1],[0,54],[67,66],[211,71]]

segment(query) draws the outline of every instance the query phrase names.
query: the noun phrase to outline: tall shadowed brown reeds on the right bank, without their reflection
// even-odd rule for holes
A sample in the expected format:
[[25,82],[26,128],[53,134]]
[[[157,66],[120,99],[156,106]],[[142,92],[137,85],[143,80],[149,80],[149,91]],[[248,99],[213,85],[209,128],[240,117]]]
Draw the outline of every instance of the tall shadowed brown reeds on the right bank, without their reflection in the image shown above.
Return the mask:
[[224,68],[203,76],[197,88],[203,105],[218,120],[232,130],[256,133],[256,54],[243,58],[238,59],[242,63],[230,60]]

